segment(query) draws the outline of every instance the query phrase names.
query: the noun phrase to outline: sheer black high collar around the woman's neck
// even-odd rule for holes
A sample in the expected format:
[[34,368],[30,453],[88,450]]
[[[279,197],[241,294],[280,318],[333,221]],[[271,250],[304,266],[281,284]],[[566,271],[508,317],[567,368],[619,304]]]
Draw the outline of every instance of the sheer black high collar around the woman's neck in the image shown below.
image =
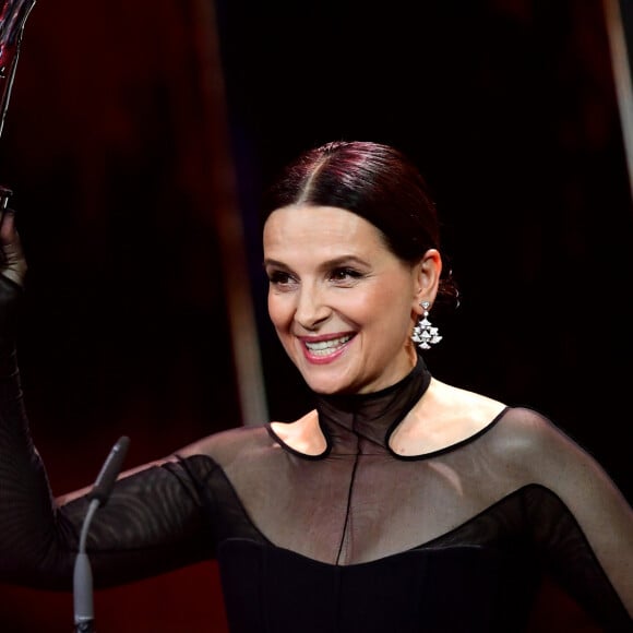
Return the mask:
[[420,399],[431,374],[418,354],[414,369],[399,382],[378,392],[316,395],[319,423],[329,453],[381,454],[396,426]]

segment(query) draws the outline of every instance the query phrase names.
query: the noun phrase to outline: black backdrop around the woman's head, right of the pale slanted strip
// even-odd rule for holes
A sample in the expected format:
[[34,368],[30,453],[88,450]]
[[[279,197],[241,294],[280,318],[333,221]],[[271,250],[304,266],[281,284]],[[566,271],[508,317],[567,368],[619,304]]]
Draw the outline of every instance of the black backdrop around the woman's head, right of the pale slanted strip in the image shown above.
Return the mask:
[[[431,368],[549,414],[631,492],[633,216],[600,2],[231,1],[219,15],[242,208],[255,217],[262,181],[312,144],[407,152],[463,295]],[[304,394],[292,369],[279,380],[263,327],[272,414],[292,417]]]

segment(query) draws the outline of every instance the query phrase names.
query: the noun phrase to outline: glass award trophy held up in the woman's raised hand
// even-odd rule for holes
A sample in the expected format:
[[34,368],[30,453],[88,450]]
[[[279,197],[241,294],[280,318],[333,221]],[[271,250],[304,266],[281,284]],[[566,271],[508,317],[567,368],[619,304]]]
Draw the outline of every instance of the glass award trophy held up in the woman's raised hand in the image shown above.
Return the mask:
[[[34,4],[35,0],[0,0],[0,136],[15,77],[24,23]],[[0,213],[7,208],[12,193],[11,189],[0,184]]]

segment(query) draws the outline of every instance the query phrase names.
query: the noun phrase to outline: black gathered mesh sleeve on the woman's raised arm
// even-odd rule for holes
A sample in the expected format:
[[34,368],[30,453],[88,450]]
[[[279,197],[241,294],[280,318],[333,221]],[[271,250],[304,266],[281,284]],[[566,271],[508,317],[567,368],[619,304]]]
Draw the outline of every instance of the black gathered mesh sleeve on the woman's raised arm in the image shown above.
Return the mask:
[[[56,503],[32,442],[12,335],[20,299],[21,289],[0,277],[0,581],[70,588],[88,502]],[[213,469],[211,462],[204,465]],[[95,586],[213,556],[205,526],[198,491],[181,463],[118,481],[88,533]]]

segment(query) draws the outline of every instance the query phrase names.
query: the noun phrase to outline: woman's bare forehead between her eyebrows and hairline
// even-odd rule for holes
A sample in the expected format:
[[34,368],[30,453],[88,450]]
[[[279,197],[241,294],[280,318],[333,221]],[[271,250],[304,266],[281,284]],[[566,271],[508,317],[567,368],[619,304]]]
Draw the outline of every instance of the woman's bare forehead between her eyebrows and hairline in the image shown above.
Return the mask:
[[[264,225],[264,252],[297,249],[385,249],[382,234],[365,218],[336,206],[290,205],[277,208]],[[386,250],[386,249],[385,249]]]

